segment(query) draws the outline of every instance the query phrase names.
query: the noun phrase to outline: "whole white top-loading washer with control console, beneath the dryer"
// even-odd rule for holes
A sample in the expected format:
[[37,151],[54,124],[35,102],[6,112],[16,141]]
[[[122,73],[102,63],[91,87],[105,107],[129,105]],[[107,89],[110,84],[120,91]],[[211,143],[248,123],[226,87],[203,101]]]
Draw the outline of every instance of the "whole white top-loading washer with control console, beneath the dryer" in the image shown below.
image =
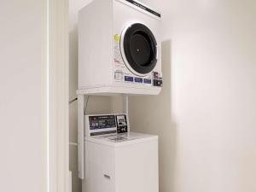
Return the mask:
[[158,192],[158,137],[129,131],[125,114],[86,115],[83,192]]

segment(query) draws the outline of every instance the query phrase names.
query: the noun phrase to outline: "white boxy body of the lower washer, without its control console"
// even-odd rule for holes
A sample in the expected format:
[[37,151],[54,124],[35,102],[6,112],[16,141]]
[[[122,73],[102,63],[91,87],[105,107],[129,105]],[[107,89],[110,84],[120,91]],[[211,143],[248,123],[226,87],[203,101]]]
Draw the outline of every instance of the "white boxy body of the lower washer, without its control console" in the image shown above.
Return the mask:
[[158,137],[85,138],[83,192],[158,192]]

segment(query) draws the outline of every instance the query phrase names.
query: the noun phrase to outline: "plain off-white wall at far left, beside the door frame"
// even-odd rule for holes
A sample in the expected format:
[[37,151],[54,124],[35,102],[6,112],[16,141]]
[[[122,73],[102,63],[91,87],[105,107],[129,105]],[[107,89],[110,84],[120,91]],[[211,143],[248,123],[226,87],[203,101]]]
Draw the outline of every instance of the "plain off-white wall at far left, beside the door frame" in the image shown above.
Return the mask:
[[41,2],[0,2],[1,191],[43,187]]

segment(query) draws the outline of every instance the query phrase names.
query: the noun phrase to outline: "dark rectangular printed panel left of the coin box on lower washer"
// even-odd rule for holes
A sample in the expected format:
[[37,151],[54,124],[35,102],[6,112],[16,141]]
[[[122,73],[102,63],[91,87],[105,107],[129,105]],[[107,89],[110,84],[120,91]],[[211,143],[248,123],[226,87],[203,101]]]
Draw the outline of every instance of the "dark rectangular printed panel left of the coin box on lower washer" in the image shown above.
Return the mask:
[[116,127],[114,115],[90,116],[90,130],[100,130]]

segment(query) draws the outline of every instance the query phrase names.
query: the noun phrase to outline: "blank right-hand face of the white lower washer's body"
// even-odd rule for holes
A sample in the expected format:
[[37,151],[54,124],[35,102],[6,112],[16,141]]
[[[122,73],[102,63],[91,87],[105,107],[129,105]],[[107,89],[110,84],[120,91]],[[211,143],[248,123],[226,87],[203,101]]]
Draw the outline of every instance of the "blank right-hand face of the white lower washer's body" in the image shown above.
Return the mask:
[[158,192],[158,142],[135,143],[117,148],[116,190]]

